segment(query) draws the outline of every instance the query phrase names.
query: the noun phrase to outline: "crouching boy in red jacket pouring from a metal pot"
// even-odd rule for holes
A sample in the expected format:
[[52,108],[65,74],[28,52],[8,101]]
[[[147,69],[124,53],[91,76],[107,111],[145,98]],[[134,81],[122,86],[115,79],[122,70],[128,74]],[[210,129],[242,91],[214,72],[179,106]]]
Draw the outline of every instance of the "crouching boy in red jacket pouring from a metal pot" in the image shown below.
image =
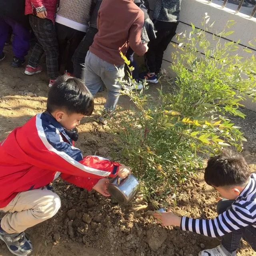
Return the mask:
[[47,110],[0,142],[0,211],[8,212],[0,220],[0,239],[13,254],[29,255],[33,249],[24,230],[58,212],[60,198],[45,187],[54,179],[110,196],[107,177],[130,174],[126,166],[83,157],[74,147],[74,128],[93,109],[92,94],[82,81],[62,76],[49,91]]

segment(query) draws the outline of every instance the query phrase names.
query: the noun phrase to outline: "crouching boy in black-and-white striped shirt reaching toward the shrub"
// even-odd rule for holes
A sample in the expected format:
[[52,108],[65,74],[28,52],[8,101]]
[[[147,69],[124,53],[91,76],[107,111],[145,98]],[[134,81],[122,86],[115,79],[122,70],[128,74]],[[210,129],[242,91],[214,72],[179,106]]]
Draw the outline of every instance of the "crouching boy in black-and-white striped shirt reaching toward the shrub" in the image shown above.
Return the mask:
[[241,238],[256,251],[256,174],[250,174],[242,156],[225,152],[208,160],[204,179],[225,198],[218,202],[216,218],[200,220],[157,212],[157,222],[205,236],[222,236],[219,246],[203,250],[199,256],[235,256]]

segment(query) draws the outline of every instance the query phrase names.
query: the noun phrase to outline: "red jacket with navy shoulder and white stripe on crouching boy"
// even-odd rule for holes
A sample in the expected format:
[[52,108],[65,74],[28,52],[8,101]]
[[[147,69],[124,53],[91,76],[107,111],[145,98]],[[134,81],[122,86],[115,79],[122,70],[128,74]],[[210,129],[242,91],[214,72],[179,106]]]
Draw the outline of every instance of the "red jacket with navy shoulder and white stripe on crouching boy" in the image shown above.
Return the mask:
[[116,176],[119,166],[100,156],[83,157],[55,118],[37,114],[0,142],[0,208],[58,176],[91,190],[100,178]]

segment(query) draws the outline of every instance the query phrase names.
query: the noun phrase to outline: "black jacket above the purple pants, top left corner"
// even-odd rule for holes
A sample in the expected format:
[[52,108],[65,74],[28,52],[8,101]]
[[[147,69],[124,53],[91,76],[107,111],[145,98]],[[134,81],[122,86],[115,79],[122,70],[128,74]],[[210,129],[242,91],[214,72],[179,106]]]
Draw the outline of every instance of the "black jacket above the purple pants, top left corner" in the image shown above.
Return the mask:
[[0,16],[7,16],[29,28],[28,16],[25,16],[25,0],[0,0]]

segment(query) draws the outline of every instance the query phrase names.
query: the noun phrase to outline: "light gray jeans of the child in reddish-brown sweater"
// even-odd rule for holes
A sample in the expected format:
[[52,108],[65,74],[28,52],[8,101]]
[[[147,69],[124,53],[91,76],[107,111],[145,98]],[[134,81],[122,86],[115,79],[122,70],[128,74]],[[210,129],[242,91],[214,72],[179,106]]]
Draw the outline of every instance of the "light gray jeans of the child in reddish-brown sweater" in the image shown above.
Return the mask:
[[107,112],[114,111],[120,96],[121,85],[118,80],[124,77],[124,65],[115,66],[88,51],[84,70],[84,82],[92,95],[95,95],[105,84],[108,96],[104,110]]

